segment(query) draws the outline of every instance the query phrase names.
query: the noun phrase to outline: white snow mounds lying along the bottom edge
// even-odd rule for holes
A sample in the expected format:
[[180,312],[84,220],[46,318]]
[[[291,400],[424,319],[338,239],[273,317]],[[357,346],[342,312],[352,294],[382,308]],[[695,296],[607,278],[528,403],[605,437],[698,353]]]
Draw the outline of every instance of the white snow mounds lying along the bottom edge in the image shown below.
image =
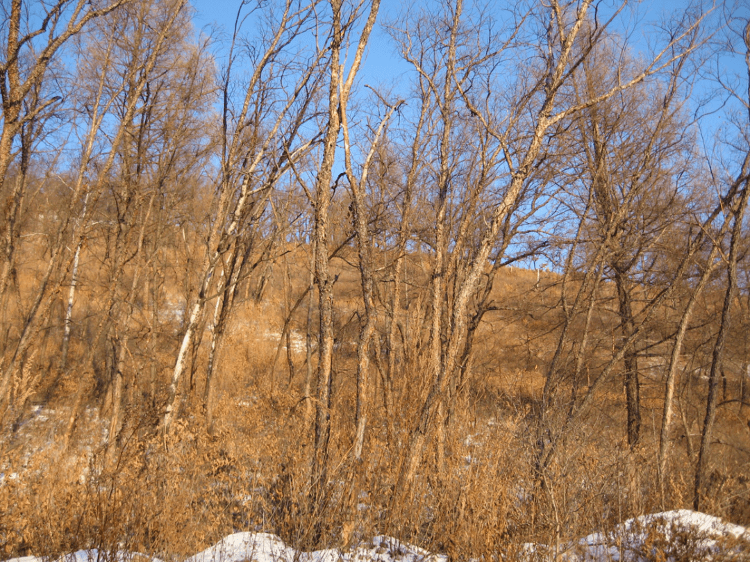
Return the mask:
[[[77,551],[55,562],[112,560],[97,550]],[[161,562],[144,554],[119,552],[117,562]],[[750,560],[750,530],[686,509],[628,519],[610,533],[592,533],[564,545],[525,546],[519,562],[681,562],[691,560]],[[8,562],[43,562],[41,558],[13,558]],[[327,549],[299,552],[269,533],[235,533],[187,558],[185,562],[448,562],[390,536],[379,535],[349,551]]]

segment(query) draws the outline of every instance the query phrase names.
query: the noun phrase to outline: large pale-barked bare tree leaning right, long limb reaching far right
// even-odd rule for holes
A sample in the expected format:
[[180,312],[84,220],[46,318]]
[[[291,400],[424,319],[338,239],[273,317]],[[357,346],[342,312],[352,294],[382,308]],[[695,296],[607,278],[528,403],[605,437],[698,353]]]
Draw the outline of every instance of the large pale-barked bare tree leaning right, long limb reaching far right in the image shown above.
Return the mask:
[[[497,248],[499,235],[507,224],[508,217],[517,212],[523,198],[529,194],[529,184],[541,162],[547,158],[557,129],[563,127],[571,116],[636,86],[646,77],[686,56],[697,45],[694,32],[700,19],[674,34],[667,47],[656,53],[649,62],[643,63],[639,68],[622,69],[619,80],[595,97],[580,102],[569,101],[565,96],[566,89],[580,72],[581,65],[600,48],[607,38],[608,26],[623,8],[621,6],[613,11],[606,21],[599,21],[598,14],[589,14],[590,7],[590,2],[565,5],[552,2],[549,8],[541,8],[538,13],[533,11],[530,14],[518,14],[516,20],[505,30],[505,38],[472,41],[472,45],[492,47],[469,55],[466,54],[469,47],[460,44],[466,23],[462,17],[462,5],[458,2],[450,7],[449,14],[440,26],[432,25],[429,28],[433,36],[435,29],[446,29],[445,35],[435,45],[435,50],[409,57],[420,76],[428,80],[431,74],[425,71],[423,65],[423,61],[429,60],[427,53],[430,53],[429,57],[437,59],[445,56],[443,68],[446,71],[440,74],[440,83],[433,80],[429,86],[440,107],[442,134],[436,163],[440,173],[436,174],[435,254],[431,275],[433,302],[430,311],[428,360],[431,383],[420,406],[416,431],[413,431],[407,446],[407,460],[404,461],[404,468],[399,476],[397,495],[404,491],[407,482],[412,479],[430,428],[440,419],[441,404],[446,398],[446,389],[457,372],[460,350],[466,338],[466,311],[469,302],[476,294],[490,255],[496,257],[493,251]],[[537,51],[538,64],[529,68],[525,76],[518,80],[513,98],[501,106],[505,113],[499,114],[497,107],[493,105],[497,103],[496,98],[487,95],[487,90],[480,89],[479,80],[471,80],[471,73],[483,65],[499,71],[499,65],[510,60],[514,50],[520,49],[524,44],[526,36],[523,34],[534,32],[538,37],[544,38],[543,46],[540,45]],[[425,42],[427,36],[419,37],[405,30],[404,37],[406,45],[416,44],[418,48],[420,45],[428,45]],[[485,80],[492,83],[492,77]],[[446,217],[449,216],[450,186],[455,179],[456,165],[451,160],[451,131],[458,127],[459,107],[466,107],[466,120],[477,131],[475,137],[486,139],[486,145],[475,149],[481,155],[478,164],[481,181],[472,182],[472,185],[482,186],[477,189],[490,189],[492,186],[496,195],[493,196],[491,210],[481,217],[481,221],[476,218],[469,221],[469,224],[478,224],[472,230],[474,243],[471,251],[454,254],[455,281],[452,281],[450,298],[446,299],[446,281],[443,278],[449,271],[451,260],[446,252],[450,245],[445,229]],[[472,204],[471,197],[481,200],[479,194],[472,196],[472,191],[466,193],[469,205]],[[457,232],[459,239],[464,236],[460,226]],[[463,249],[463,245],[456,247]]]

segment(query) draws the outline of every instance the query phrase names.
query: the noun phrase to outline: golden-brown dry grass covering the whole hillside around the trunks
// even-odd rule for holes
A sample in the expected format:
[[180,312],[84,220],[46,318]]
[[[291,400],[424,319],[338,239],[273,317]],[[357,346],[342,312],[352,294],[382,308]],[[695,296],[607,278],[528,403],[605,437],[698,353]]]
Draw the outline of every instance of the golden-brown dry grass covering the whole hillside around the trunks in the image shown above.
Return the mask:
[[[292,300],[307,282],[304,250],[289,254],[297,264]],[[415,258],[410,265],[415,286],[410,288],[410,310],[403,312],[404,317],[411,314],[413,322],[418,320],[417,293],[424,277],[416,270],[418,263]],[[23,424],[16,432],[5,431],[0,443],[1,556],[53,557],[80,548],[127,548],[172,560],[227,533],[263,530],[301,548],[353,545],[376,533],[389,533],[446,552],[452,560],[505,559],[521,551],[525,542],[560,545],[592,530],[611,529],[634,515],[688,506],[694,458],[687,454],[685,439],[673,447],[664,501],[657,486],[653,459],[660,421],[659,380],[644,389],[644,438],[639,447],[631,450],[624,443],[624,401],[616,380],[604,387],[597,407],[557,444],[543,473],[535,470],[535,407],[555,342],[551,326],[559,322],[559,292],[552,275],[534,289],[535,274],[521,270],[499,278],[496,297],[507,306],[488,314],[478,335],[472,383],[457,397],[445,425],[445,455],[440,455],[436,440],[429,442],[408,494],[395,498],[404,443],[413,431],[426,380],[419,362],[399,363],[389,416],[383,380],[374,376],[364,460],[353,461],[359,282],[345,262],[339,260],[337,267],[341,275],[336,284],[335,404],[329,480],[322,502],[311,496],[306,301],[290,322],[296,341],[293,376],[283,348],[272,370],[290,307],[284,302],[281,266],[275,268],[260,302],[242,300],[233,311],[218,358],[215,431],[205,431],[200,399],[208,358],[206,332],[194,376],[184,383],[181,420],[164,437],[158,420],[181,329],[178,303],[190,293],[175,282],[178,275],[167,275],[173,279],[161,289],[165,310],[155,326],[151,355],[145,347],[150,332],[143,327],[148,325],[148,307],[131,324],[129,406],[114,461],[107,459],[104,449],[107,379],[96,368],[81,364],[95,344],[101,318],[101,287],[89,278],[82,284],[81,305],[76,308],[71,368],[57,379],[42,376],[56,348],[40,348],[46,349],[40,351],[46,356],[29,361],[24,375],[29,388],[34,380],[39,383]],[[94,272],[89,270],[89,275]],[[59,332],[59,326],[55,329]],[[379,329],[383,337],[384,326]],[[54,343],[58,335],[49,334]],[[607,338],[611,341],[607,335],[601,340],[606,344]],[[584,377],[595,374],[597,361],[606,353],[606,347],[596,348]],[[83,411],[71,445],[63,449],[60,437],[82,383]],[[688,383],[695,390],[685,395],[683,407],[693,408],[696,417],[703,391],[694,380]],[[561,394],[567,392],[568,386],[561,389]],[[730,385],[727,392],[739,389]],[[741,421],[739,416],[720,420],[720,434],[725,436],[721,438],[733,439],[734,449],[727,452],[722,447],[731,449],[729,444],[717,446],[721,457],[712,472],[716,494],[706,510],[747,524],[750,482],[742,475],[747,473],[748,453],[740,449],[746,447],[748,436],[742,434]]]

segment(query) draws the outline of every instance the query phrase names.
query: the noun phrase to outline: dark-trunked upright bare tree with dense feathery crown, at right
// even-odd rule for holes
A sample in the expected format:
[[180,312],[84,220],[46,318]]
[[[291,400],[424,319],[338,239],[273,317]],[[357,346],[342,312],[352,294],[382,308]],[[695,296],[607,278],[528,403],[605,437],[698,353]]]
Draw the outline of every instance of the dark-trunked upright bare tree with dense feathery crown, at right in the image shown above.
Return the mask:
[[[610,64],[605,60],[598,68],[593,62],[582,65],[585,83],[580,88],[591,98],[612,86],[601,74]],[[593,190],[593,236],[604,248],[603,273],[615,283],[621,341],[628,340],[640,322],[637,301],[645,295],[637,293],[649,285],[644,282],[651,275],[649,265],[663,251],[665,233],[684,212],[680,193],[689,177],[685,155],[691,153],[691,138],[680,119],[685,62],[677,60],[663,82],[642,83],[577,116],[577,146],[586,155],[584,177]],[[630,446],[640,438],[638,347],[634,341],[623,357]]]

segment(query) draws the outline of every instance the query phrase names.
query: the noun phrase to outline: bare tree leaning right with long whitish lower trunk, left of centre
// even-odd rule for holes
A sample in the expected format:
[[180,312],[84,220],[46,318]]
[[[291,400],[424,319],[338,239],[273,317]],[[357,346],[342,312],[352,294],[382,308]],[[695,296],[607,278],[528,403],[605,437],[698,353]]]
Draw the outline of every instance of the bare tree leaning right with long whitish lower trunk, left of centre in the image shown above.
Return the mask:
[[[208,247],[200,273],[200,288],[191,303],[187,326],[181,338],[169,401],[163,425],[169,428],[178,413],[181,377],[187,368],[188,353],[202,337],[205,307],[216,298],[214,291],[220,278],[223,257],[233,251],[243,233],[263,214],[276,182],[290,170],[294,161],[310,149],[313,138],[302,137],[302,126],[309,118],[311,101],[317,91],[320,62],[326,50],[295,56],[293,48],[300,35],[314,27],[317,2],[289,0],[278,14],[272,15],[272,26],[260,39],[257,57],[251,61],[252,74],[243,87],[244,97],[235,109],[231,92],[233,65],[239,64],[234,50],[223,80],[223,120],[220,128],[222,155],[216,180],[216,211]],[[242,8],[237,16],[234,41],[239,41]],[[261,9],[258,7],[257,9]],[[289,76],[293,78],[290,80]],[[226,277],[231,282],[230,278]],[[233,287],[223,287],[223,291]],[[228,310],[227,310],[228,312]],[[209,380],[210,385],[210,380]],[[210,389],[206,397],[210,397]]]

